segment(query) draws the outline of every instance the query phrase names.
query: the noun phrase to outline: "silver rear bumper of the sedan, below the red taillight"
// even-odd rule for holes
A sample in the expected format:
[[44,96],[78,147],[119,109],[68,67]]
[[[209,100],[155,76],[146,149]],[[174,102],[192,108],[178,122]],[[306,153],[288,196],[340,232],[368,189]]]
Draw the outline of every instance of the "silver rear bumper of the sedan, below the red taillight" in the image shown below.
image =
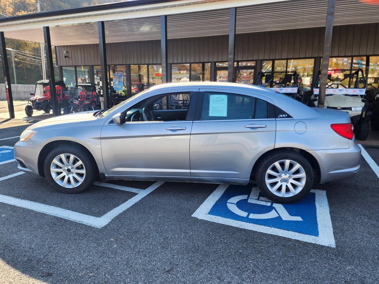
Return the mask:
[[348,149],[308,151],[320,166],[320,183],[352,178],[359,171],[361,149],[355,141],[349,144]]

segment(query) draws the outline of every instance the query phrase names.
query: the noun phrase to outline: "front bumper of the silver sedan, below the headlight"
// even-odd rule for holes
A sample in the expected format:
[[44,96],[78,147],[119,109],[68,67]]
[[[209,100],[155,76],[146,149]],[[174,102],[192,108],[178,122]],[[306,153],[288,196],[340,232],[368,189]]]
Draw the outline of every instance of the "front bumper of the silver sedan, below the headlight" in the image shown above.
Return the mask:
[[17,167],[25,173],[39,175],[38,172],[38,156],[42,147],[37,146],[31,139],[25,142],[17,142],[14,145],[14,158],[21,162]]

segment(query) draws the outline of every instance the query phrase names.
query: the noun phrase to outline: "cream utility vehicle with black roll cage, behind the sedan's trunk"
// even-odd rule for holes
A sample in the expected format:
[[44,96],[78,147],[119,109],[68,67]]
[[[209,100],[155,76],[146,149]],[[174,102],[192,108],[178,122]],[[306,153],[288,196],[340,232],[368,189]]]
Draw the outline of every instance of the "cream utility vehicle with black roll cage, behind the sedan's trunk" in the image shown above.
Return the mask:
[[[317,107],[320,73],[311,90],[309,106]],[[358,140],[366,140],[369,131],[367,100],[363,99],[366,92],[366,81],[362,69],[330,69],[328,70],[324,108],[340,109],[350,115],[354,125],[354,134]]]

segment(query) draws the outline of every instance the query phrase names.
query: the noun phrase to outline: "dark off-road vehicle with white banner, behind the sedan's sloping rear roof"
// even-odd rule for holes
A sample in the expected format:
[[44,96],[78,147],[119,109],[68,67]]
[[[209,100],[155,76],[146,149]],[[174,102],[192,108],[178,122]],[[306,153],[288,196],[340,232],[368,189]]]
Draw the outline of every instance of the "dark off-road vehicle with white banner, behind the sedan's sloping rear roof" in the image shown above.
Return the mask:
[[298,101],[303,100],[303,86],[296,72],[259,72],[255,85],[271,88]]

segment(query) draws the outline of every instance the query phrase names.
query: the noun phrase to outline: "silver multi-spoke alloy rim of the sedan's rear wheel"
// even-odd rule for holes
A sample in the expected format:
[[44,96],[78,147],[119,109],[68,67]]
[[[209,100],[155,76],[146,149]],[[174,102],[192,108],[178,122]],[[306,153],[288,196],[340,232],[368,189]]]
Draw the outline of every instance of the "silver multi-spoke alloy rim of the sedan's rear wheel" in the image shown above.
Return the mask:
[[266,171],[265,176],[268,189],[280,197],[298,194],[304,188],[306,179],[303,167],[292,160],[274,162]]

